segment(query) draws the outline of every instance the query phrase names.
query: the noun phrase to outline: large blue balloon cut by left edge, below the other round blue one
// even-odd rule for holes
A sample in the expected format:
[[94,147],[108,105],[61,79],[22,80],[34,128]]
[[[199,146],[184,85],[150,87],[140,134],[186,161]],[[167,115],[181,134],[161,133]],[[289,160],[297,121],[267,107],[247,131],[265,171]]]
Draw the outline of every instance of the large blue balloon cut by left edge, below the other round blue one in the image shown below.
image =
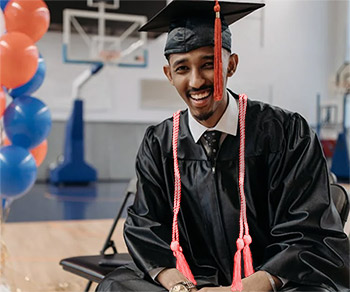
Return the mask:
[[0,197],[27,193],[36,179],[35,160],[27,149],[10,145],[0,148]]

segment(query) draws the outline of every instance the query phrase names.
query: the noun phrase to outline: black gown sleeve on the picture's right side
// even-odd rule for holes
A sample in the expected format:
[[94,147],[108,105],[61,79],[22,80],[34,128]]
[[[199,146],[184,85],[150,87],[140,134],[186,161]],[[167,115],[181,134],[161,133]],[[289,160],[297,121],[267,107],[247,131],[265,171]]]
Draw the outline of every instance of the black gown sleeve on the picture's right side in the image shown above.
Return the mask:
[[266,270],[288,281],[349,291],[349,239],[330,196],[328,170],[315,133],[298,114],[269,156],[271,243]]

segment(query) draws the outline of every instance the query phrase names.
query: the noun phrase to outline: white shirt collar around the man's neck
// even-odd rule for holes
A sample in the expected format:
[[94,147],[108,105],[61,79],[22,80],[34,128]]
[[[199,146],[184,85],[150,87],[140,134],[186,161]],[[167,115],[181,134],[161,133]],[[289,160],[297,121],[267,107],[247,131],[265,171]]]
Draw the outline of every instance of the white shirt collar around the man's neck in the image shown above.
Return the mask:
[[228,105],[218,123],[213,128],[207,128],[199,123],[188,110],[188,124],[194,141],[197,143],[205,131],[220,131],[236,136],[238,124],[238,105],[236,99],[228,92]]

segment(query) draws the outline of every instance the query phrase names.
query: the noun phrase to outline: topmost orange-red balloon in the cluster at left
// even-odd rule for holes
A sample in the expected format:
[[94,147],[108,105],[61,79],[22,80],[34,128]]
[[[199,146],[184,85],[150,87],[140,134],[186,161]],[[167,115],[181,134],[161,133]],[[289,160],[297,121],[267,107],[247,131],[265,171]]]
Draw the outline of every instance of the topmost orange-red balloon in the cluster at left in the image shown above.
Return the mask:
[[8,32],[22,32],[34,43],[41,39],[50,24],[50,11],[42,0],[12,0],[4,10]]

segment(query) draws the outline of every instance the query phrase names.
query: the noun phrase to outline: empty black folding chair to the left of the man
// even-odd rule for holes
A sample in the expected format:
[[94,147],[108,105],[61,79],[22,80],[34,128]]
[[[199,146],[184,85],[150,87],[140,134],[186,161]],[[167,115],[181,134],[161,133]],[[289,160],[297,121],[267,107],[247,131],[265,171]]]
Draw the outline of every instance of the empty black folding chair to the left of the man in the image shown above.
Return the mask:
[[[117,223],[125,207],[127,206],[130,196],[134,195],[135,193],[136,178],[130,180],[129,182],[122,205],[120,206],[117,216],[114,219],[112,227],[99,255],[76,256],[65,258],[60,261],[60,265],[65,271],[89,280],[85,288],[86,292],[89,291],[92,282],[100,283],[102,279],[116,267],[132,262],[132,259],[128,253],[118,253],[114,241],[111,238],[115,227],[117,226]],[[112,249],[113,253],[106,254],[106,251],[110,248]]]

